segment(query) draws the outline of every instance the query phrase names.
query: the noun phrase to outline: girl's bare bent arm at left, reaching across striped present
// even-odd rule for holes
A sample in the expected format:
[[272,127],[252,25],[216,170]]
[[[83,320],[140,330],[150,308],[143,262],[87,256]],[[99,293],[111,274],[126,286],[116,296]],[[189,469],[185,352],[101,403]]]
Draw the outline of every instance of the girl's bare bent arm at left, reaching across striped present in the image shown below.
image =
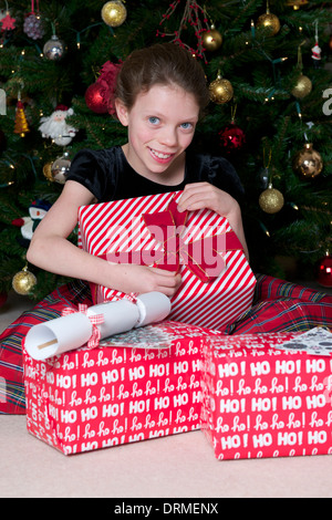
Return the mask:
[[126,293],[160,291],[173,295],[179,287],[179,275],[144,266],[112,264],[68,240],[77,223],[79,207],[94,201],[89,189],[69,180],[35,229],[27,252],[28,261],[56,274],[79,278]]

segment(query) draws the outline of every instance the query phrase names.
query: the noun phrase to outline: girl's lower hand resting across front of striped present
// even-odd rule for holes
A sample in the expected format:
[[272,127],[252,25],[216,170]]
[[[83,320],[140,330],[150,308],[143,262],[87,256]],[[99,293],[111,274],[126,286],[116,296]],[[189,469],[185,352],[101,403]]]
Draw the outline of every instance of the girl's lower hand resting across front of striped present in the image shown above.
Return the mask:
[[[126,293],[138,292],[142,294],[158,291],[170,298],[181,283],[180,274],[164,269],[127,263],[111,264],[110,269],[113,271],[110,288]],[[114,279],[116,280],[116,287],[114,285]],[[107,282],[104,282],[104,284],[108,287]]]

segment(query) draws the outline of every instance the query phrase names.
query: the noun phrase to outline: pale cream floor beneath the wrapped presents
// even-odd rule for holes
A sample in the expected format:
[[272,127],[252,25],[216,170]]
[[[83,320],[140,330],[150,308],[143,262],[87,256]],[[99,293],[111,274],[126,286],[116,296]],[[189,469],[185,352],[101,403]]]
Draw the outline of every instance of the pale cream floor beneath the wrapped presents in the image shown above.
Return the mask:
[[[11,294],[0,331],[29,305]],[[331,456],[218,461],[201,431],[65,457],[0,416],[0,440],[2,498],[332,497]]]

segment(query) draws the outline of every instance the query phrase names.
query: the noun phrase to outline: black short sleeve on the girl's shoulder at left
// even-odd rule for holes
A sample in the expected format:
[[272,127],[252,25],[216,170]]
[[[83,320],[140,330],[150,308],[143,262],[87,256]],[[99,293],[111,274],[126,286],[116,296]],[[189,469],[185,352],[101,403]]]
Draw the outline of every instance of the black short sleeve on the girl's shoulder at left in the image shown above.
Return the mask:
[[[110,152],[110,150],[108,150]],[[80,150],[72,160],[66,180],[75,180],[91,191],[98,201],[105,194],[112,197],[115,186],[115,168],[107,150]]]

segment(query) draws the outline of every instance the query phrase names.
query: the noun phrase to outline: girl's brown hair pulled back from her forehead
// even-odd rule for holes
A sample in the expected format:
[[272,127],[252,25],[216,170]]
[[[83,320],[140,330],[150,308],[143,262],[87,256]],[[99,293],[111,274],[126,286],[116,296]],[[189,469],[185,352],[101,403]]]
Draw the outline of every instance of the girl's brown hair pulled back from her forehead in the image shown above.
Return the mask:
[[114,97],[132,108],[139,92],[173,83],[193,94],[203,113],[209,94],[201,65],[176,43],[156,43],[128,55],[117,75]]

